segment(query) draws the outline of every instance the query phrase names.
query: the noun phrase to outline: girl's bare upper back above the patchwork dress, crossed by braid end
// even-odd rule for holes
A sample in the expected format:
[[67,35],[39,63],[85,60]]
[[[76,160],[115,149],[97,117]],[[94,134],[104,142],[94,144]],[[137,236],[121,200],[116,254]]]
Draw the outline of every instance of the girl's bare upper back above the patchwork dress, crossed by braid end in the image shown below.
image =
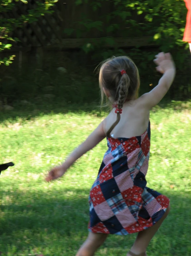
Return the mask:
[[[141,104],[141,97],[136,100],[126,102],[122,108],[121,119],[114,127],[111,135],[113,138],[131,138],[143,134],[149,124],[149,109]],[[109,130],[115,122],[117,114],[115,109],[104,120],[104,132]]]

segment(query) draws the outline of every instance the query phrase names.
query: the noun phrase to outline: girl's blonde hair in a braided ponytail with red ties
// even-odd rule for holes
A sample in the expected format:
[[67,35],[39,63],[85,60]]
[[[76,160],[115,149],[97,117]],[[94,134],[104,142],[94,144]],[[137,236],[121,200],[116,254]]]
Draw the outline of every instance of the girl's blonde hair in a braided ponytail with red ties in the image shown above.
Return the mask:
[[[121,70],[126,73],[121,74]],[[99,72],[99,86],[101,89],[102,104],[104,101],[103,88],[109,90],[114,103],[122,108],[126,100],[137,99],[140,87],[139,71],[134,62],[127,56],[112,57],[101,63]],[[117,113],[117,120],[107,131],[110,137],[111,131],[120,121],[120,113]]]

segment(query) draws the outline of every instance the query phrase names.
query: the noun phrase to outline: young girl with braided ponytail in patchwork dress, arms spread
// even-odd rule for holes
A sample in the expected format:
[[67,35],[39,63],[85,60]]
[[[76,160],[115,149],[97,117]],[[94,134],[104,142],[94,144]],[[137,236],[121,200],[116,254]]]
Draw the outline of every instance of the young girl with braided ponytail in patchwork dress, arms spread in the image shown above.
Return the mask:
[[61,177],[84,153],[107,137],[98,177],[89,196],[89,235],[76,256],[92,256],[109,234],[138,236],[127,254],[145,256],[147,246],[169,213],[169,199],[146,187],[150,151],[149,112],[170,88],[175,67],[169,53],[154,62],[163,73],[159,84],[138,98],[138,69],[126,56],[101,65],[99,84],[113,110],[67,160],[53,168],[47,181]]

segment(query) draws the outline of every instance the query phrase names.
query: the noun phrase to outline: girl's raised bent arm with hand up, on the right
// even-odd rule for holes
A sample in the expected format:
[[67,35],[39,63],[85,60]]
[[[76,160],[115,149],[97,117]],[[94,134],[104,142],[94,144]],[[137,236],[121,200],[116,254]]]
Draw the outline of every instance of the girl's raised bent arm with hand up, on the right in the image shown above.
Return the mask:
[[140,97],[141,103],[146,106],[148,109],[156,106],[161,99],[165,96],[168,92],[174,77],[175,77],[175,65],[171,58],[170,53],[159,53],[155,56],[156,59],[154,62],[157,64],[157,71],[163,74],[159,83],[154,89],[150,92],[143,94]]

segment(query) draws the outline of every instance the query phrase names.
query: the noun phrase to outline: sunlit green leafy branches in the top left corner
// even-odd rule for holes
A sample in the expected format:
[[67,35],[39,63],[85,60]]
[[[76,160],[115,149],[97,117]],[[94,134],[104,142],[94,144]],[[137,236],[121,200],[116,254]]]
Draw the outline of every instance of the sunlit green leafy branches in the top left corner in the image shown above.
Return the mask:
[[[0,52],[8,50],[12,46],[9,43],[3,43],[4,41],[16,41],[18,38],[12,38],[10,33],[17,27],[22,27],[24,23],[32,23],[37,21],[41,15],[51,13],[51,7],[58,0],[47,0],[44,3],[36,2],[36,8],[30,9],[26,0],[2,0],[0,3],[0,13],[5,14],[6,18],[0,20]],[[27,5],[27,14],[18,15],[17,18],[9,17],[9,12],[14,10],[17,5]],[[8,18],[7,18],[8,17]],[[9,65],[12,63],[15,55],[11,55],[8,58],[0,59],[0,65]]]

